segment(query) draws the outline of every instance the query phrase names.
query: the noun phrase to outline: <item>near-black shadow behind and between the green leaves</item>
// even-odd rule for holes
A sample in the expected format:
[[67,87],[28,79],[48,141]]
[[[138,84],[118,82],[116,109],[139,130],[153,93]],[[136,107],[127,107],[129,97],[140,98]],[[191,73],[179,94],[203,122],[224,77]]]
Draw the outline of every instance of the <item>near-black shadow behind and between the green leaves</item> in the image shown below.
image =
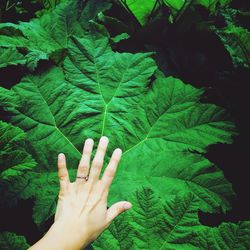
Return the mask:
[[[231,7],[250,11],[247,2],[247,0],[236,0],[232,2]],[[30,13],[33,12],[30,11]],[[131,18],[117,6],[113,6],[107,14],[116,17],[120,15],[119,17],[121,19],[124,17],[124,20]],[[193,15],[194,21],[184,31],[181,30],[178,33],[176,27],[158,20],[145,28],[135,28],[130,39],[114,45],[113,49],[138,52],[157,48],[159,55],[163,55],[163,59],[156,55],[158,65],[166,75],[174,75],[197,87],[206,87],[207,91],[202,101],[226,108],[236,124],[239,135],[234,138],[234,143],[231,145],[210,146],[206,157],[223,170],[225,177],[232,183],[237,200],[233,202],[232,210],[226,214],[200,212],[200,220],[203,224],[210,226],[217,226],[223,221],[250,220],[250,71],[242,67],[235,68],[230,55],[218,37],[197,26],[199,18],[202,17],[203,20],[208,18],[208,13],[204,9],[198,8],[190,14]],[[17,18],[13,17],[13,13],[8,13],[8,15],[5,16],[5,21],[15,21]],[[18,16],[20,20],[29,20],[31,17],[32,15]],[[223,25],[223,20],[219,19],[215,22],[216,25]],[[245,20],[241,20],[241,25],[249,28],[249,23]],[[178,27],[182,27],[182,25],[179,24]],[[112,25],[107,28],[111,34],[118,32]],[[47,64],[47,62],[41,62],[39,67],[42,69],[47,67]],[[1,86],[10,88],[27,73],[26,71],[21,66],[0,69]],[[2,111],[0,115],[2,120],[6,120]],[[0,230],[24,235],[31,244],[37,241],[42,232],[52,224],[53,218],[45,223],[42,231],[39,231],[32,219],[32,207],[33,200],[29,199],[20,201],[12,208],[1,208]]]

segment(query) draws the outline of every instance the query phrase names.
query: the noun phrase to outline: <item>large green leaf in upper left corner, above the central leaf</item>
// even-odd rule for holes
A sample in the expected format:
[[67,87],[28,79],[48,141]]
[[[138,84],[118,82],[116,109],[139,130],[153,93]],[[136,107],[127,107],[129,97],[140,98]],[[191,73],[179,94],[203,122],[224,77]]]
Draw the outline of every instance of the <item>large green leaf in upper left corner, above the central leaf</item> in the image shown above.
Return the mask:
[[[45,13],[30,22],[2,23],[0,48],[4,54],[1,61],[5,62],[5,65],[13,64],[13,61],[14,64],[20,64],[20,53],[13,53],[19,48],[25,55],[22,64],[26,64],[31,70],[34,70],[42,59],[50,58],[59,63],[65,56],[70,35],[76,33],[80,36],[88,21],[109,7],[108,1],[94,0],[83,3],[79,0],[69,0],[63,1],[53,12]],[[11,61],[8,58],[10,52],[13,58]]]

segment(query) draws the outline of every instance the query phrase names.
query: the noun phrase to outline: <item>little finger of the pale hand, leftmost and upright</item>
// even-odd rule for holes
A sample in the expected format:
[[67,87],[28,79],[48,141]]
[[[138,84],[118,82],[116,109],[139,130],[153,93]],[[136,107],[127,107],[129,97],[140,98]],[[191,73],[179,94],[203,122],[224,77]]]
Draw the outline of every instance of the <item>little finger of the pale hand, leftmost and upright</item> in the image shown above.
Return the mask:
[[68,190],[70,183],[69,174],[66,167],[66,158],[63,153],[58,155],[58,176],[60,180],[60,192],[59,195],[64,195]]

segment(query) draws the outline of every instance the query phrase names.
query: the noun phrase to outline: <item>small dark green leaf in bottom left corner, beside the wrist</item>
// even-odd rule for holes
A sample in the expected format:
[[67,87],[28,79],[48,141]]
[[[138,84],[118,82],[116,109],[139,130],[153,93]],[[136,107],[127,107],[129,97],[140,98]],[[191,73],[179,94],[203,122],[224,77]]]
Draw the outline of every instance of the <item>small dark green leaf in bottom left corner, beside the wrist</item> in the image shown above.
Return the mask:
[[30,245],[26,242],[24,236],[10,232],[0,233],[1,250],[27,250],[29,247]]

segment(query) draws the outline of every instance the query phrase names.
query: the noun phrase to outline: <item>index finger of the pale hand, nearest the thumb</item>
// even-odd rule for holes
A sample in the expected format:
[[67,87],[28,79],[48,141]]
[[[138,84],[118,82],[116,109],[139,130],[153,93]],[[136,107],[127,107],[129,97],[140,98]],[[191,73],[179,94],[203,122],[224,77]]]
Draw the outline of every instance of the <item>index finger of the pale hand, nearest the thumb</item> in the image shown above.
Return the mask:
[[102,182],[103,182],[103,188],[108,190],[113,178],[116,173],[117,166],[120,162],[122,155],[122,150],[120,148],[116,148],[111,156],[110,162],[108,166],[106,167],[103,176],[102,176]]

